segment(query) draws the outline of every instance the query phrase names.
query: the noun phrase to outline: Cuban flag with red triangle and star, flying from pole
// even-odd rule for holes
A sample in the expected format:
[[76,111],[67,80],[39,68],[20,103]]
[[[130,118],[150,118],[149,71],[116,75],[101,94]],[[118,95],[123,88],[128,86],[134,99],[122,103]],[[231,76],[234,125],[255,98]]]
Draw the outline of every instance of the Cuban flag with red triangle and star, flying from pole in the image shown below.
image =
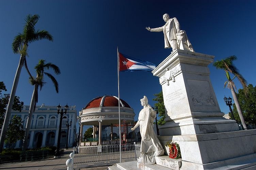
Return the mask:
[[147,61],[139,60],[130,56],[126,56],[119,52],[119,71],[152,71],[156,65]]

